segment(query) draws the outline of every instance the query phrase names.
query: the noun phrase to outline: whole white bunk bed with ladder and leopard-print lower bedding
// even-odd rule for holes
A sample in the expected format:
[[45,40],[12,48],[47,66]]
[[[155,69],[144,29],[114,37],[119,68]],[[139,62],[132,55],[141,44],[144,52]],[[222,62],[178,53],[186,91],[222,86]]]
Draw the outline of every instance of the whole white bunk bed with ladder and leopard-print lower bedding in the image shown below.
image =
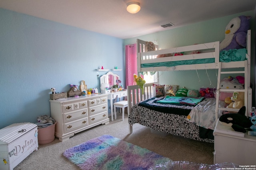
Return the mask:
[[[148,71],[217,69],[218,83],[216,99],[208,99],[214,100],[214,109],[211,109],[211,111],[209,111],[210,113],[208,113],[212,115],[212,117],[209,117],[209,121],[212,123],[213,127],[215,127],[215,123],[222,114],[222,111],[238,111],[238,109],[226,108],[223,107],[223,104],[220,104],[222,102],[219,99],[221,92],[234,92],[234,90],[231,89],[220,88],[221,75],[242,73],[245,78],[244,89],[236,91],[244,92],[244,104],[246,106],[246,113],[249,115],[248,112],[252,103],[252,90],[250,88],[250,33],[251,31],[248,30],[246,49],[241,49],[243,52],[239,52],[245,53],[242,55],[245,57],[241,57],[241,55],[237,57],[226,57],[226,53],[220,53],[219,41],[186,47],[146,51],[147,42],[137,39],[138,73]],[[225,58],[228,58],[228,60],[225,60]],[[241,71],[237,71],[237,68],[241,68]],[[163,109],[158,110],[156,107],[147,107],[150,103],[153,104],[156,103],[154,101],[160,100],[154,96],[153,84],[144,84],[143,92],[137,85],[128,86],[127,89],[130,133],[133,131],[132,125],[139,123],[156,131],[162,131],[198,141],[214,142],[212,129],[205,128],[204,126],[197,125],[197,123],[187,120],[188,114],[194,107],[178,106],[178,108],[169,109],[168,111],[163,111]]]

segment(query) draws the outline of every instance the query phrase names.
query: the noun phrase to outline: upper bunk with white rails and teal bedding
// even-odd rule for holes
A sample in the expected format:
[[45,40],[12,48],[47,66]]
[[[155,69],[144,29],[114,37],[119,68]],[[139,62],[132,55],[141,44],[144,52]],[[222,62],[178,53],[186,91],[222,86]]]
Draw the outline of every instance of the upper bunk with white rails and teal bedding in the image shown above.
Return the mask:
[[243,65],[241,62],[250,59],[250,41],[250,30],[248,30],[247,49],[220,51],[220,42],[216,41],[185,47],[148,51],[148,43],[137,39],[138,72],[196,70],[206,68],[216,69],[218,68],[219,62],[227,63],[222,66],[222,68],[240,67]]

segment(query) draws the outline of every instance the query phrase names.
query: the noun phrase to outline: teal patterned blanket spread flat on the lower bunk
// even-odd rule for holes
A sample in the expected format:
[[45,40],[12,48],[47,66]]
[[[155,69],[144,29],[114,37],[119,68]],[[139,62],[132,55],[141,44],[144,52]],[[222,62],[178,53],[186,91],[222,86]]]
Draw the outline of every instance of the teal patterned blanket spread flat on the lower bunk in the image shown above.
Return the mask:
[[191,98],[191,97],[177,97],[177,96],[166,96],[162,100],[158,100],[157,103],[162,104],[188,104],[190,106],[196,106],[202,102],[204,98]]

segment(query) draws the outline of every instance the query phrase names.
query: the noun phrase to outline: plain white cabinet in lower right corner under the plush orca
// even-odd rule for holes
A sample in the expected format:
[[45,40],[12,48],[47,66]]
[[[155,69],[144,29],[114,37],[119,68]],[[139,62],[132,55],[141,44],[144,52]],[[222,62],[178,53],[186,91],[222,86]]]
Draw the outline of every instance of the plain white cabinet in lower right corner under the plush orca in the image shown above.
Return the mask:
[[256,168],[256,136],[234,131],[218,120],[214,135],[214,164],[232,162]]

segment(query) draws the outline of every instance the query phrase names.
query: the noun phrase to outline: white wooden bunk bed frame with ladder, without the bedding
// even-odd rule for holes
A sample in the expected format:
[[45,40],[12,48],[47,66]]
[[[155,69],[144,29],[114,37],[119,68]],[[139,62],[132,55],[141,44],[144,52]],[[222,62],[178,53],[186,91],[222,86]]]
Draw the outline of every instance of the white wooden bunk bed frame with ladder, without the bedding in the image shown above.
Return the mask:
[[[252,89],[250,88],[250,51],[251,51],[251,30],[247,33],[247,54],[245,61],[233,61],[229,63],[220,62],[220,42],[204,43],[197,45],[190,45],[185,47],[176,47],[171,49],[163,49],[157,51],[145,50],[146,41],[137,39],[137,70],[139,72],[147,71],[171,71],[171,70],[206,70],[206,69],[218,69],[218,84],[217,84],[217,95],[216,95],[216,110],[215,119],[218,120],[218,111],[238,111],[238,109],[230,109],[226,107],[218,107],[219,104],[219,92],[234,92],[234,90],[220,89],[220,77],[221,74],[244,74],[245,83],[243,90],[236,90],[237,92],[244,92],[244,105],[246,106],[247,116],[249,115],[250,108],[252,107]],[[206,50],[205,53],[189,54],[182,56],[162,57],[156,58],[156,55],[168,54],[168,53],[181,53],[188,51],[199,51]],[[173,67],[157,66],[157,67],[146,67],[142,68],[141,64],[144,63],[160,63],[168,61],[184,61],[192,59],[210,59],[214,58],[214,63],[206,64],[190,64],[190,65],[178,65]],[[242,71],[225,71],[225,68],[243,68]],[[139,74],[138,74],[139,75]],[[130,95],[129,95],[130,94]],[[144,94],[140,93],[138,86],[128,86],[128,114],[130,113],[132,106],[142,100],[146,100],[153,97],[153,86],[151,84],[144,84]],[[132,133],[132,125],[129,125],[129,131]]]

